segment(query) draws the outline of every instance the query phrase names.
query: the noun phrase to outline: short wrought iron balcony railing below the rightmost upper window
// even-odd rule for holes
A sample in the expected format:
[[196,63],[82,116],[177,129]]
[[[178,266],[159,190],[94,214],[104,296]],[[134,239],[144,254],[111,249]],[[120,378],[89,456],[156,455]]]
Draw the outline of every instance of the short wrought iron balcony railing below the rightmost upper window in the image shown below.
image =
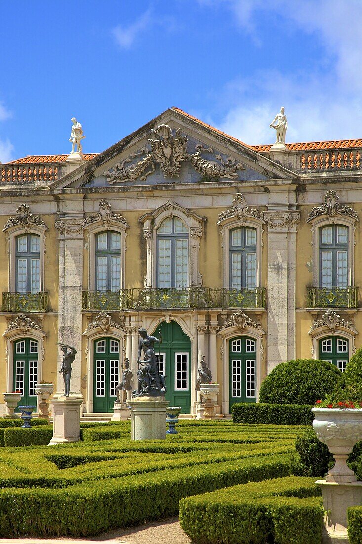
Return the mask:
[[308,287],[308,308],[357,308],[357,287]]

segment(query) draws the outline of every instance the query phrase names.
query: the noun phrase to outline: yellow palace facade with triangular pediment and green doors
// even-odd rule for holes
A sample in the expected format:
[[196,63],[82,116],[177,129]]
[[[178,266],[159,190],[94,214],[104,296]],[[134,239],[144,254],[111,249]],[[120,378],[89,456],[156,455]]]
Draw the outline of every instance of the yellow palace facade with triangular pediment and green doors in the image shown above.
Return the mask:
[[161,327],[184,413],[203,355],[224,415],[282,361],[343,370],[362,343],[361,152],[252,147],[171,108],[103,153],[0,164],[2,391],[61,391],[66,343],[83,411],[109,413],[140,326]]

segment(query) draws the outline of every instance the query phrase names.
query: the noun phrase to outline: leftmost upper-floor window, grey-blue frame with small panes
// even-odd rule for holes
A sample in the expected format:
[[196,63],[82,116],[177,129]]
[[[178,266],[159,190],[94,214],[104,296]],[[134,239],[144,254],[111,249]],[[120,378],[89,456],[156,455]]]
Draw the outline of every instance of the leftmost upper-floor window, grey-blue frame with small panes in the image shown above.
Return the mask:
[[16,237],[15,290],[38,293],[40,290],[40,237],[22,234]]

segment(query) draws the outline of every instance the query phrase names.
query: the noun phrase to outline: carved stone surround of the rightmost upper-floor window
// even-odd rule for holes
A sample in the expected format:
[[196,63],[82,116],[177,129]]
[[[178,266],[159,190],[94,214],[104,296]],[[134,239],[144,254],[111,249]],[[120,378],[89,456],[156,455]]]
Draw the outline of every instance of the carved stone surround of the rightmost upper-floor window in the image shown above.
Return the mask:
[[320,228],[331,224],[340,224],[348,228],[348,286],[354,285],[354,232],[358,217],[357,212],[349,206],[340,205],[338,200],[336,191],[327,191],[324,195],[324,206],[314,207],[307,219],[312,233],[313,287],[320,287]]

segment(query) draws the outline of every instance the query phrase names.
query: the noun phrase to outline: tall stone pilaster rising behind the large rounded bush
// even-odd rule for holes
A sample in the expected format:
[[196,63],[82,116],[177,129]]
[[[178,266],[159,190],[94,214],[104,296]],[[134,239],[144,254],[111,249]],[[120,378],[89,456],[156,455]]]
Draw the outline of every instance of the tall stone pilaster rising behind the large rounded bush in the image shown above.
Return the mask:
[[299,212],[265,212],[268,225],[267,371],[295,358],[296,230]]

